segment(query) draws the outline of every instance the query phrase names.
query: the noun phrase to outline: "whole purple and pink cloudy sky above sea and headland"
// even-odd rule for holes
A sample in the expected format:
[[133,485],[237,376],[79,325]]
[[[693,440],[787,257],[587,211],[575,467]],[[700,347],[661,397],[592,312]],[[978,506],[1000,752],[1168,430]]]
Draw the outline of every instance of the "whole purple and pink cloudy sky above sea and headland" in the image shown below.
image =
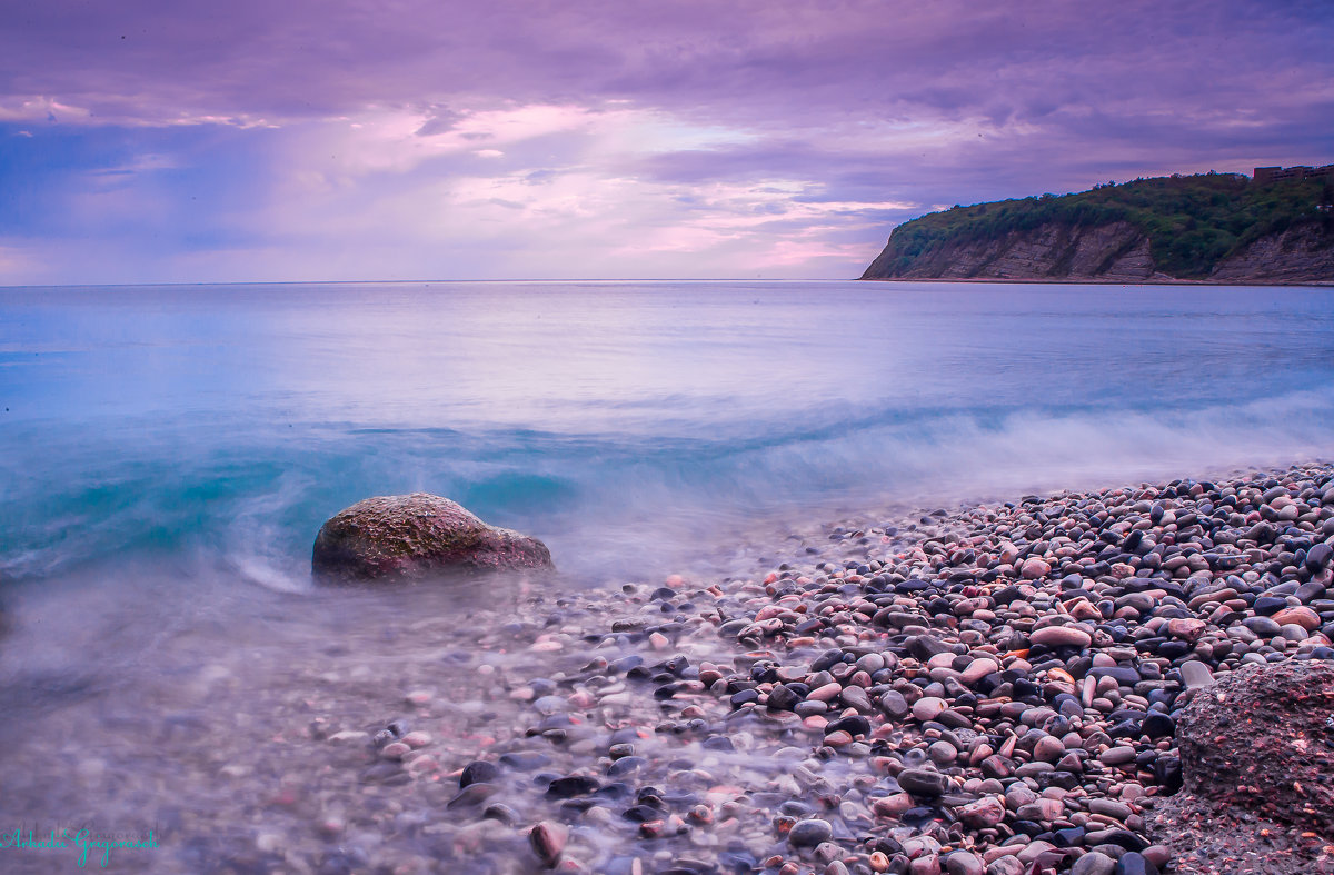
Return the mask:
[[1334,161],[1329,0],[3,3],[0,284],[855,277]]

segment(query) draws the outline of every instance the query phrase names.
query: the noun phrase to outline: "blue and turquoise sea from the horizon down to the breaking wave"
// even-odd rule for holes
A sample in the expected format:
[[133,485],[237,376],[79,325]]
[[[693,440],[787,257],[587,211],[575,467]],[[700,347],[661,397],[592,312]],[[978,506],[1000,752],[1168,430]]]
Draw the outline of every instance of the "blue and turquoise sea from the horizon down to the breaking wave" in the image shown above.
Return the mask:
[[7,288],[0,408],[11,583],[300,591],[325,518],[419,490],[606,580],[762,519],[1334,455],[1334,289]]

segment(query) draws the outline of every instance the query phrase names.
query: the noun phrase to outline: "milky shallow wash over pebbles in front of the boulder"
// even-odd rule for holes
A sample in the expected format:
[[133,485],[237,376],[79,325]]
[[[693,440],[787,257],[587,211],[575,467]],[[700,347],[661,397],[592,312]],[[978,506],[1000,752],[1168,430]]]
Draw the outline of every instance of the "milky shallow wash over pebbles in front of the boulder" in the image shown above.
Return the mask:
[[[754,562],[744,550],[727,559]],[[592,775],[611,784],[599,796],[610,807],[578,820],[567,864],[752,864],[776,842],[775,811],[808,812],[847,767],[812,771],[820,734],[791,714],[727,723],[726,698],[691,683],[702,662],[730,672],[754,659],[718,634],[735,592],[700,590],[716,580],[562,596],[559,579],[494,578],[384,592],[196,591],[188,603],[157,584],[164,607],[179,602],[165,611],[177,618],[171,628],[113,600],[33,595],[7,642],[29,651],[4,676],[3,806],[39,838],[71,824],[153,831],[160,848],[112,851],[108,871],[530,872],[542,866],[527,827],[575,816],[548,783]],[[51,635],[59,650],[43,647]],[[140,642],[137,655],[99,662],[92,651],[117,635]],[[80,638],[88,650],[71,646]],[[671,700],[655,698],[648,676],[627,676],[678,655],[690,668]],[[672,728],[659,732],[664,722]],[[372,746],[391,724],[411,746],[402,759]],[[632,746],[615,767],[614,743]],[[478,759],[503,772],[474,799],[459,771]],[[620,816],[646,787],[679,822]],[[503,808],[482,818],[492,806]],[[722,823],[691,830],[698,806]],[[643,840],[644,828],[663,835]],[[843,838],[850,830],[839,826]],[[52,871],[59,854],[11,851],[5,871]]]

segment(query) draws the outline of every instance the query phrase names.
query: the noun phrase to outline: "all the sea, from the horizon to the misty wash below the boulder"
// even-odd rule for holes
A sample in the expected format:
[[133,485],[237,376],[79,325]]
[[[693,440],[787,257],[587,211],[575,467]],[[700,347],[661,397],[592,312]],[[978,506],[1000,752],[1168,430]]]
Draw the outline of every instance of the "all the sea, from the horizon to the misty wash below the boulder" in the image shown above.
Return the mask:
[[[1330,458],[1334,289],[8,288],[0,407],[0,814],[156,823],[153,866],[203,871],[296,828],[267,806],[327,766],[293,726],[427,687],[471,738],[508,719],[479,666],[587,662],[528,650],[562,594],[754,574],[847,512]],[[542,538],[544,600],[311,584],[324,519],[412,491]]]

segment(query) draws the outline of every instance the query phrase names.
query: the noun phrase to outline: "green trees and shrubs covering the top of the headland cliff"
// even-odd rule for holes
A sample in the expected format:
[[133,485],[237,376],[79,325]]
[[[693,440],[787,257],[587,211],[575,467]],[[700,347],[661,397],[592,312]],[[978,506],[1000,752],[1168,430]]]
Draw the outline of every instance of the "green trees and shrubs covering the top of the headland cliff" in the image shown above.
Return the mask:
[[1267,235],[1301,224],[1321,224],[1325,235],[1334,233],[1330,203],[1334,185],[1327,177],[1259,184],[1234,173],[1206,173],[954,207],[895,228],[876,275],[906,275],[918,259],[946,245],[998,240],[1047,224],[1090,228],[1125,221],[1149,239],[1157,271],[1203,279],[1222,259]]

